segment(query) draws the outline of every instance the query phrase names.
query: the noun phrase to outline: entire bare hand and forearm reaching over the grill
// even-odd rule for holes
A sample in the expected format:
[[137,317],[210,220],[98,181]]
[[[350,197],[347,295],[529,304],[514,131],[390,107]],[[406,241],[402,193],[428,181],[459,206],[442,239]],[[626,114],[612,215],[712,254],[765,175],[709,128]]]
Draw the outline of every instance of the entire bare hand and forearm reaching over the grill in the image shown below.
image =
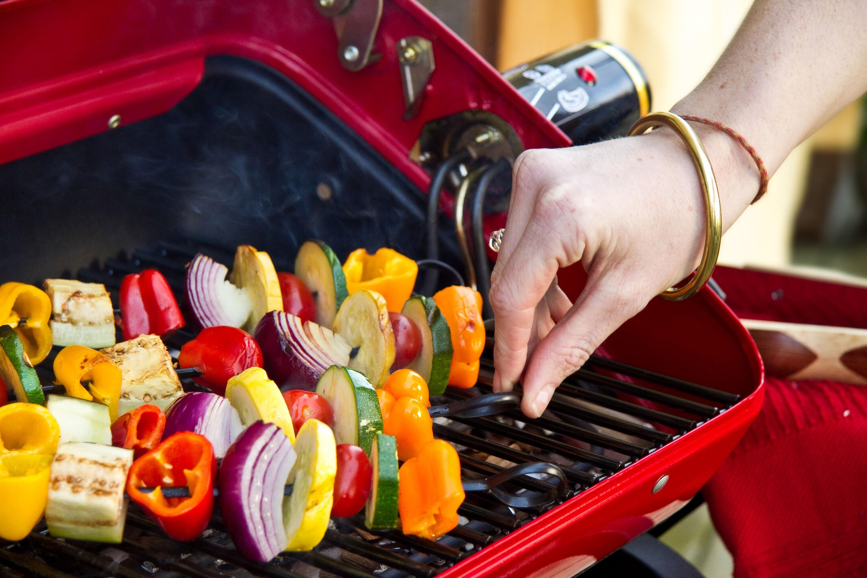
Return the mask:
[[[833,10],[822,0],[756,0],[720,60],[674,112],[733,127],[772,175],[867,90],[865,27],[867,10],[857,0]],[[726,134],[692,126],[714,166],[726,231],[753,200],[759,172]],[[667,128],[522,154],[489,295],[494,388],[511,389],[523,373],[524,412],[543,412],[560,381],[617,326],[693,270],[705,215],[692,161]],[[571,304],[555,275],[578,261],[590,279]]]

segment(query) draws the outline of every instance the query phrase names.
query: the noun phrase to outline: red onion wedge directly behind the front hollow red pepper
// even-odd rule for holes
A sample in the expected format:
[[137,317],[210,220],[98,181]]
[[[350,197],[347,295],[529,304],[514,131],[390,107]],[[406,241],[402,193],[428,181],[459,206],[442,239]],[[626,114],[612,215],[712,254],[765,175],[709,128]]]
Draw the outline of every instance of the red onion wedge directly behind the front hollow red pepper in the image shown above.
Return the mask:
[[238,411],[228,399],[216,393],[188,392],[166,408],[163,439],[177,432],[199,433],[211,442],[214,455],[222,458],[243,430]]

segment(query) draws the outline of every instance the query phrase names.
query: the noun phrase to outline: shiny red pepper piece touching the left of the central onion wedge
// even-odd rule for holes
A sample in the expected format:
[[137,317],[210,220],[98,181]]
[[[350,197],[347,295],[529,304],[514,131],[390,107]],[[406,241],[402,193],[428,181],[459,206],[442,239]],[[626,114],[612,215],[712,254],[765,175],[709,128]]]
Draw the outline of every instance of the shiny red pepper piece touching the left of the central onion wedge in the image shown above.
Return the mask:
[[225,383],[251,367],[262,367],[262,349],[244,329],[218,325],[204,328],[180,348],[178,365],[195,367],[202,375],[194,379],[220,395]]

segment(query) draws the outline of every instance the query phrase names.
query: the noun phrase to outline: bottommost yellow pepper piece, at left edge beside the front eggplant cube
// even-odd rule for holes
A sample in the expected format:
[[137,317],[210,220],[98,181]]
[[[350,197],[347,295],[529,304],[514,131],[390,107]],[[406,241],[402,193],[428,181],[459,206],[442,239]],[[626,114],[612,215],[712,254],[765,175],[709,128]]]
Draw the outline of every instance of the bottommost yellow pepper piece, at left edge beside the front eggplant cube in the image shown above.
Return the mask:
[[[32,404],[29,404],[32,405]],[[0,455],[0,538],[22,540],[42,519],[49,497],[49,453]]]

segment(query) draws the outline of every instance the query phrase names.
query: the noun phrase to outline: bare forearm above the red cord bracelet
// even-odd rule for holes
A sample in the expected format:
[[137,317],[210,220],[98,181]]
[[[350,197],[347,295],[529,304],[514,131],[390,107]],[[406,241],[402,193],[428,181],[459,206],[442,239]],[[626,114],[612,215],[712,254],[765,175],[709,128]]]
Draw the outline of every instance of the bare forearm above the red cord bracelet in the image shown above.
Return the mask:
[[756,0],[675,112],[735,128],[775,172],[795,146],[867,90],[864,0]]

